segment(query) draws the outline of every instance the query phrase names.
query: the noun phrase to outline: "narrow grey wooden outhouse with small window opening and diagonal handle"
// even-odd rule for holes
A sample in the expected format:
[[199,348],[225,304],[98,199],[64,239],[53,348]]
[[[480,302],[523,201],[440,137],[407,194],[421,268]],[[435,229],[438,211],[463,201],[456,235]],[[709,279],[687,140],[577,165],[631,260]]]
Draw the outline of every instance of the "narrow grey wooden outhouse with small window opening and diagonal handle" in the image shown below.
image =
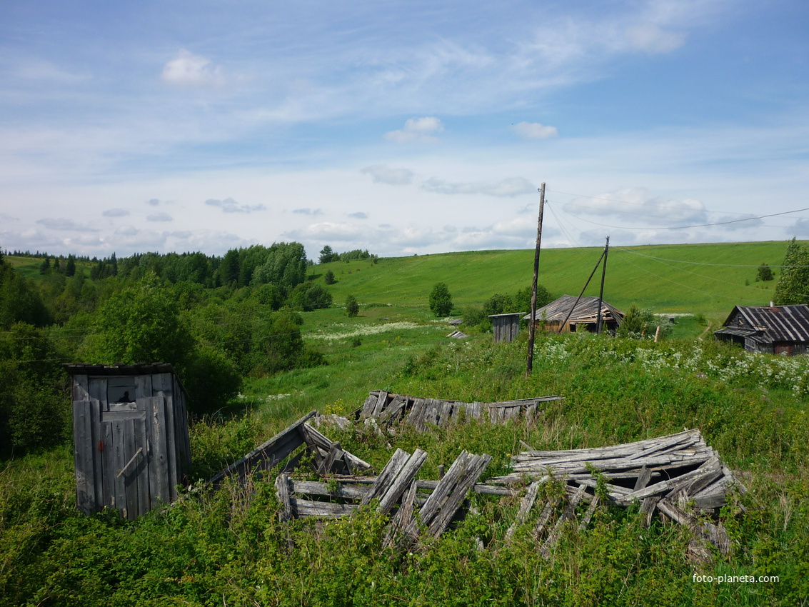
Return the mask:
[[68,364],[76,502],[134,520],[177,497],[191,464],[185,390],[170,364]]

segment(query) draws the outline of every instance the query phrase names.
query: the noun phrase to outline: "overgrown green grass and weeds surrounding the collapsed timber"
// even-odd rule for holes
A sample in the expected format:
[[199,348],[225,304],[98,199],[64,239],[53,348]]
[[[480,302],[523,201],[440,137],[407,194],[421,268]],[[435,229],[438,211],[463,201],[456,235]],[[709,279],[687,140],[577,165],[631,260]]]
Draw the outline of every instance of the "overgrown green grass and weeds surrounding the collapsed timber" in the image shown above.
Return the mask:
[[[110,513],[85,517],[74,511],[72,456],[57,449],[6,462],[0,473],[0,596],[21,605],[806,604],[806,359],[693,340],[570,335],[541,337],[526,378],[524,340],[455,342],[443,337],[446,325],[417,316],[342,325],[321,327],[322,337],[307,333],[325,348],[328,366],[249,381],[235,405],[240,414],[221,412],[192,428],[197,475],[306,410],[348,412],[373,388],[478,401],[555,393],[565,399],[549,403],[533,426],[401,431],[395,446],[430,454],[424,478],[461,449],[493,455],[487,474],[495,475],[520,440],[580,448],[698,427],[749,488],[740,497],[746,513],[722,512],[734,553],[695,565],[685,556],[684,528],[660,521],[641,528],[637,509],[604,507],[587,531],[568,528],[545,560],[528,525],[506,541],[518,503],[491,496],[472,496],[477,513],[421,550],[402,552],[383,547],[386,520],[371,509],[328,524],[279,524],[272,482],[192,489],[131,523]],[[328,434],[377,469],[392,452],[362,427]],[[711,584],[693,575],[778,581]]]

